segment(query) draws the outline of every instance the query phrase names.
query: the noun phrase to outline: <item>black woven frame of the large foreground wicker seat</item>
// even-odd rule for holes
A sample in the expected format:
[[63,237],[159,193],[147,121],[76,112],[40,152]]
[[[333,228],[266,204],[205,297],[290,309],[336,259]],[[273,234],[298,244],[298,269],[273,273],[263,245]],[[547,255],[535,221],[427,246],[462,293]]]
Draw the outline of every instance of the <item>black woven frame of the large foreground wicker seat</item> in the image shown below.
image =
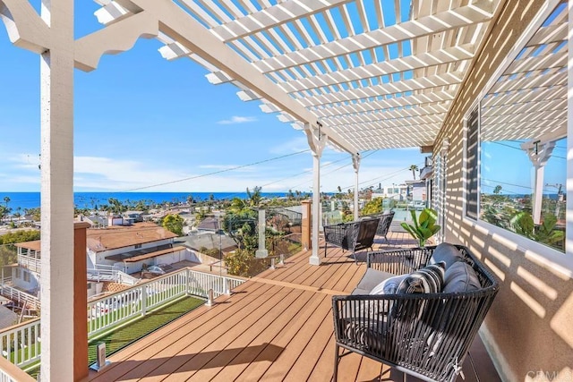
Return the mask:
[[[350,352],[423,380],[457,378],[499,284],[466,247],[456,247],[474,268],[481,288],[463,293],[333,296],[335,382],[339,358]],[[367,267],[404,275],[424,267],[435,248],[370,252]]]

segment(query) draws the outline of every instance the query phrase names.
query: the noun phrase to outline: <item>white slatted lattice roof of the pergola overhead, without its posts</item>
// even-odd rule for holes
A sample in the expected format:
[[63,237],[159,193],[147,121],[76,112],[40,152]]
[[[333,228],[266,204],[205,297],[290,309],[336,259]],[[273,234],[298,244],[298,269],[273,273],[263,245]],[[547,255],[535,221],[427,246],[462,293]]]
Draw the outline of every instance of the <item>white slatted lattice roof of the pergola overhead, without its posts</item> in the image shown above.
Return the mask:
[[[97,1],[107,26],[151,10],[140,0]],[[241,99],[259,100],[264,112],[297,129],[319,121],[332,146],[355,154],[432,145],[499,1],[169,3],[218,44],[205,55],[167,24],[157,36],[161,55],[191,58],[211,72],[211,83],[234,83]],[[261,87],[213,60],[216,49],[232,57],[235,70],[256,72]],[[278,102],[268,88],[295,102]]]

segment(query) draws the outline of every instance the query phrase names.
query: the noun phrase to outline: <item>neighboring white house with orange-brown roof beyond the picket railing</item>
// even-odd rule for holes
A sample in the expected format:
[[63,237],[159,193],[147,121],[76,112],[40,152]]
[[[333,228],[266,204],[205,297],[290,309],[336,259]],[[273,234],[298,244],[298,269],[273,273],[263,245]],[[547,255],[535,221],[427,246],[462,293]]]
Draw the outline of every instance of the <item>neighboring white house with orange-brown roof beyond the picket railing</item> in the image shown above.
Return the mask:
[[87,231],[88,267],[114,266],[131,274],[146,266],[191,259],[184,246],[174,245],[175,233],[153,223],[109,226]]

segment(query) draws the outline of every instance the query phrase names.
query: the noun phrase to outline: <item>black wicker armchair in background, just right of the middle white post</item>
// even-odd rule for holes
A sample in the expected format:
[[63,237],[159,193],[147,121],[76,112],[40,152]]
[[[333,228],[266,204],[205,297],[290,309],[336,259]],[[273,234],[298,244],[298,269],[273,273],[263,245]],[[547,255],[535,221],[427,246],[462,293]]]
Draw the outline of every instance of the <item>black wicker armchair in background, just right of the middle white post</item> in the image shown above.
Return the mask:
[[379,221],[379,217],[372,217],[338,225],[325,225],[324,256],[326,257],[326,250],[330,244],[342,248],[342,250],[351,250],[357,263],[355,251],[368,248],[372,250]]

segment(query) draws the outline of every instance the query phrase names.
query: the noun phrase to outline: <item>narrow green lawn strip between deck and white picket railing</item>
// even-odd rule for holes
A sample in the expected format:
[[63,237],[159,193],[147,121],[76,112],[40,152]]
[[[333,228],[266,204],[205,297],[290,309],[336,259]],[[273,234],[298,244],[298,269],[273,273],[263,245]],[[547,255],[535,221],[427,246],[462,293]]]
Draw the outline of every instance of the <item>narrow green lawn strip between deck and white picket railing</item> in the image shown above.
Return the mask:
[[[155,310],[147,316],[139,318],[124,327],[119,327],[107,335],[102,335],[98,337],[98,339],[90,341],[88,344],[88,364],[91,365],[96,361],[96,346],[99,343],[106,343],[107,355],[117,352],[141,337],[149,335],[159,327],[163,327],[174,319],[180,318],[188,311],[201,306],[203,303],[205,303],[204,300],[195,297],[185,297],[165,308]],[[28,372],[32,377],[38,377],[39,364]]]

